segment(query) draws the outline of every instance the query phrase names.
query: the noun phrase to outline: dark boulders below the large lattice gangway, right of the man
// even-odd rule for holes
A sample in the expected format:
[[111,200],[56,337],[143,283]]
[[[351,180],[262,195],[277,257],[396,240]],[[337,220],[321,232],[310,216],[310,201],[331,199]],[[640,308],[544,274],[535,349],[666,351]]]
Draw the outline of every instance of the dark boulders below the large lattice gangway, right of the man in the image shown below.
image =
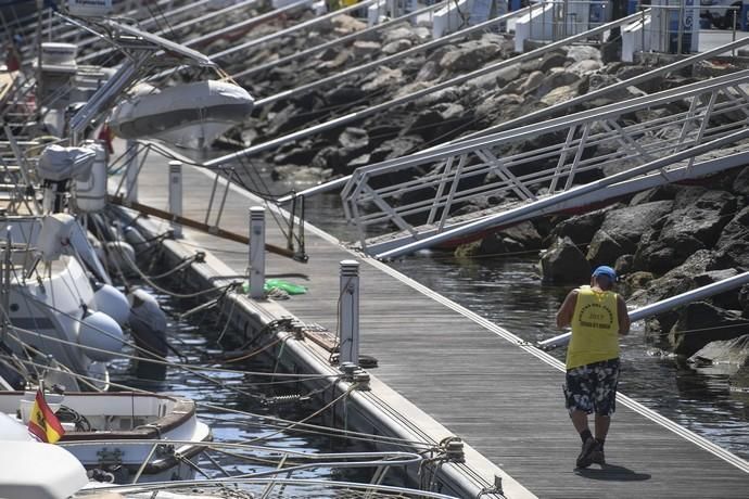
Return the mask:
[[[586,282],[595,266],[613,265],[637,308],[749,270],[749,167],[536,226],[554,227],[545,280]],[[649,319],[646,337],[700,366],[723,364],[749,389],[749,285]]]

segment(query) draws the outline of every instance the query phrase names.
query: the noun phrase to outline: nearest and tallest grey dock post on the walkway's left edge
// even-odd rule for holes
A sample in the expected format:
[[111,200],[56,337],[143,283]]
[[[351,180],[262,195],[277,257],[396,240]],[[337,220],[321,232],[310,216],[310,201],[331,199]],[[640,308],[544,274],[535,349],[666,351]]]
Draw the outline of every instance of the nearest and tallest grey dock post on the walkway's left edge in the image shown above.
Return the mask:
[[339,302],[341,345],[339,366],[351,362],[359,366],[359,263],[341,261],[341,292]]

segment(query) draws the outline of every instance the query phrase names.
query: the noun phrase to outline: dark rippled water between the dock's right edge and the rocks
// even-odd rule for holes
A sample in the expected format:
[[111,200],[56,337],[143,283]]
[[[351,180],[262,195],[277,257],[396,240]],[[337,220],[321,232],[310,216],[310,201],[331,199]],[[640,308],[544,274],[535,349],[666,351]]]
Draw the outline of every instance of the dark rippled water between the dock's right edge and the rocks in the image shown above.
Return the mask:
[[[351,241],[337,195],[310,200],[307,219]],[[314,256],[313,256],[314,258]],[[559,334],[554,317],[569,287],[544,285],[537,257],[457,260],[421,252],[392,267],[528,341]],[[563,360],[564,350],[554,356]],[[726,374],[697,371],[658,355],[644,338],[642,323],[622,341],[620,391],[711,442],[749,459],[749,394],[729,389]]]

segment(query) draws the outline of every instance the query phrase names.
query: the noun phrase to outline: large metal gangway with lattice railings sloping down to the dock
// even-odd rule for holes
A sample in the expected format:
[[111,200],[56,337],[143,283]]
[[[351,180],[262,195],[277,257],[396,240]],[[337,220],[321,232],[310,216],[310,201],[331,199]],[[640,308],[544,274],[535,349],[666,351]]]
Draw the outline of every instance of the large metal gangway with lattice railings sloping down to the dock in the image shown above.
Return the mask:
[[[365,252],[389,258],[747,164],[748,78],[742,71],[359,168],[341,194],[346,217]],[[728,145],[733,153],[714,151]],[[490,197],[500,200],[491,215],[456,217]],[[397,231],[368,239],[383,226]]]

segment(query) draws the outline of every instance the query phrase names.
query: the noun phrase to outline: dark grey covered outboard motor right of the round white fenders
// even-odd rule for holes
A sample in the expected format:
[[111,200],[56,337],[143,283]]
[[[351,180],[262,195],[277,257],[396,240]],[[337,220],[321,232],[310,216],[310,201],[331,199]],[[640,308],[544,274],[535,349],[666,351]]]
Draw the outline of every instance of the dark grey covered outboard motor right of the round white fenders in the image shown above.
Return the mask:
[[[168,343],[166,341],[166,314],[158,306],[156,298],[143,290],[136,290],[128,295],[130,303],[130,333],[136,345],[145,351],[139,351],[141,357],[152,357],[166,360]],[[164,380],[166,364],[138,360],[136,374],[147,380]]]

